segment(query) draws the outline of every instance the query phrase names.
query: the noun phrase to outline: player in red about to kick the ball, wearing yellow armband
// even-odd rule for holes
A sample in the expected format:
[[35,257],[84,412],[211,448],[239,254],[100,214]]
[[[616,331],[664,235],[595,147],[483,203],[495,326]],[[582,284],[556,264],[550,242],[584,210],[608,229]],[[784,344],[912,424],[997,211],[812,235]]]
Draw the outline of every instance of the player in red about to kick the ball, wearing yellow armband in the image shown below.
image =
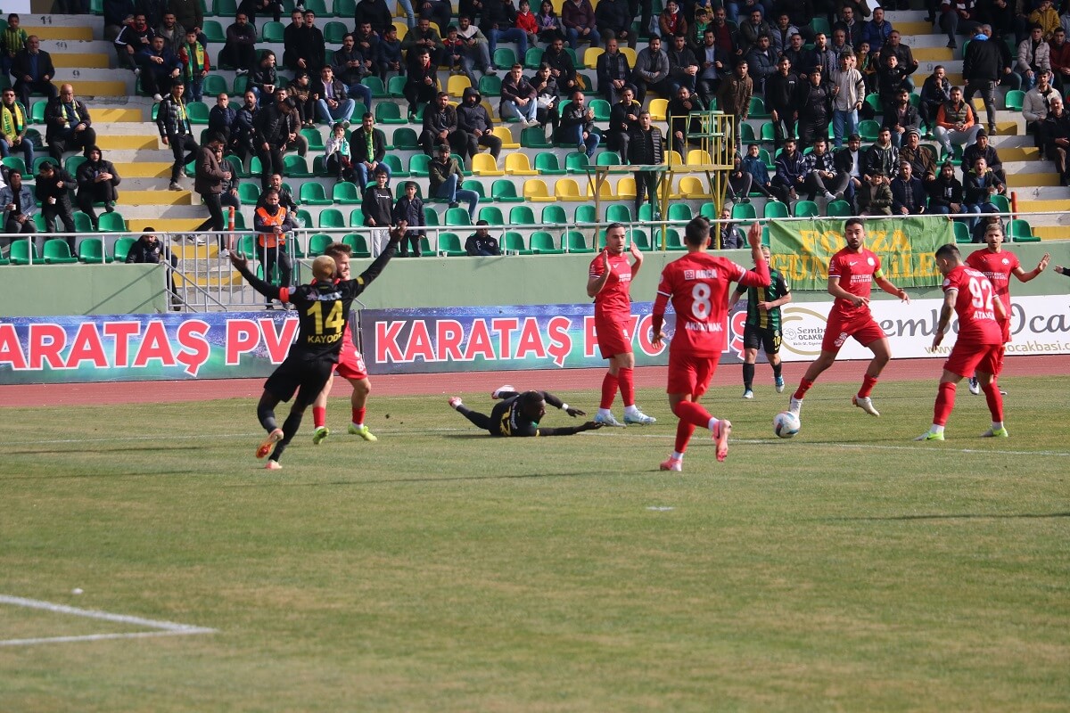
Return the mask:
[[832,309],[828,313],[825,326],[825,337],[821,342],[821,355],[814,359],[802,375],[799,387],[792,394],[788,410],[796,416],[802,408],[802,398],[817,381],[823,371],[832,366],[836,355],[840,353],[849,337],[854,337],[859,344],[873,352],[873,359],[866,370],[862,388],[851,401],[856,406],[872,416],[881,414],[873,407],[870,393],[876,385],[876,379],[884,370],[891,350],[888,338],[870,313],[869,299],[872,283],[896,295],[904,303],[910,303],[906,291],[900,290],[885,278],[881,272],[881,259],[875,252],[866,248],[866,229],[859,218],[850,218],[843,227],[843,236],[847,246],[837,252],[828,261],[828,294],[836,297]]

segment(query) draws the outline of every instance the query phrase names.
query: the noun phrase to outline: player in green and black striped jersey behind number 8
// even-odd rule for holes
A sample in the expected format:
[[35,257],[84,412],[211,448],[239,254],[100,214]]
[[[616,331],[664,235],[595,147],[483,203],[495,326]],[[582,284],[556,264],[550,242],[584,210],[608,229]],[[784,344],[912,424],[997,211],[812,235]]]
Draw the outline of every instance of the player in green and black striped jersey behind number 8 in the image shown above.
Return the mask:
[[[762,257],[769,262],[769,248],[762,246]],[[743,398],[753,399],[754,362],[758,360],[758,347],[761,345],[765,356],[773,367],[774,384],[777,393],[784,390],[784,377],[780,372],[780,307],[792,300],[792,291],[788,280],[773,266],[769,266],[769,285],[765,288],[736,288],[729,309],[747,295],[747,322],[743,330]]]

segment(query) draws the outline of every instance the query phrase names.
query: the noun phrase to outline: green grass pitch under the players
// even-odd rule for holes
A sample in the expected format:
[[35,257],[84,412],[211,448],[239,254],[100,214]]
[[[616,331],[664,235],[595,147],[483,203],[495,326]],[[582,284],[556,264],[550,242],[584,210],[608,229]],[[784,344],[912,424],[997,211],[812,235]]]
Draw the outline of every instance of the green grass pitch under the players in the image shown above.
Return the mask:
[[1065,379],[1006,379],[1009,439],[962,385],[917,444],[935,370],[880,419],[819,384],[793,440],[766,375],[683,474],[658,390],[540,439],[372,394],[366,444],[339,384],[278,472],[251,401],[0,409],[0,594],[216,630],[4,645],[146,630],[0,604],[0,710],[1068,710]]

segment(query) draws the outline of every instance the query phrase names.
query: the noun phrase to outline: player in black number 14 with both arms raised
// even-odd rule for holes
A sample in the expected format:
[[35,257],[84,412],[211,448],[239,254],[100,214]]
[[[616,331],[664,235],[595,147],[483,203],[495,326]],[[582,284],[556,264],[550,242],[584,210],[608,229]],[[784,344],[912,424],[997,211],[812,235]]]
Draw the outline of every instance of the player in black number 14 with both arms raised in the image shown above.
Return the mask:
[[[297,339],[278,368],[264,383],[264,391],[257,404],[257,418],[268,432],[268,437],[257,448],[257,458],[271,458],[264,467],[277,470],[286,447],[301,428],[305,408],[323,390],[338,362],[342,334],[349,317],[350,306],[368,284],[374,280],[386,263],[397,252],[401,231],[391,231],[391,239],[382,254],[355,280],[338,279],[334,258],[320,255],[312,261],[312,281],[297,288],[276,288],[249,272],[248,261],[230,253],[230,262],[245,281],[261,295],[281,303],[290,303],[297,310]],[[296,393],[282,428],[275,421],[275,406],[289,401]],[[274,451],[272,448],[274,447]]]

